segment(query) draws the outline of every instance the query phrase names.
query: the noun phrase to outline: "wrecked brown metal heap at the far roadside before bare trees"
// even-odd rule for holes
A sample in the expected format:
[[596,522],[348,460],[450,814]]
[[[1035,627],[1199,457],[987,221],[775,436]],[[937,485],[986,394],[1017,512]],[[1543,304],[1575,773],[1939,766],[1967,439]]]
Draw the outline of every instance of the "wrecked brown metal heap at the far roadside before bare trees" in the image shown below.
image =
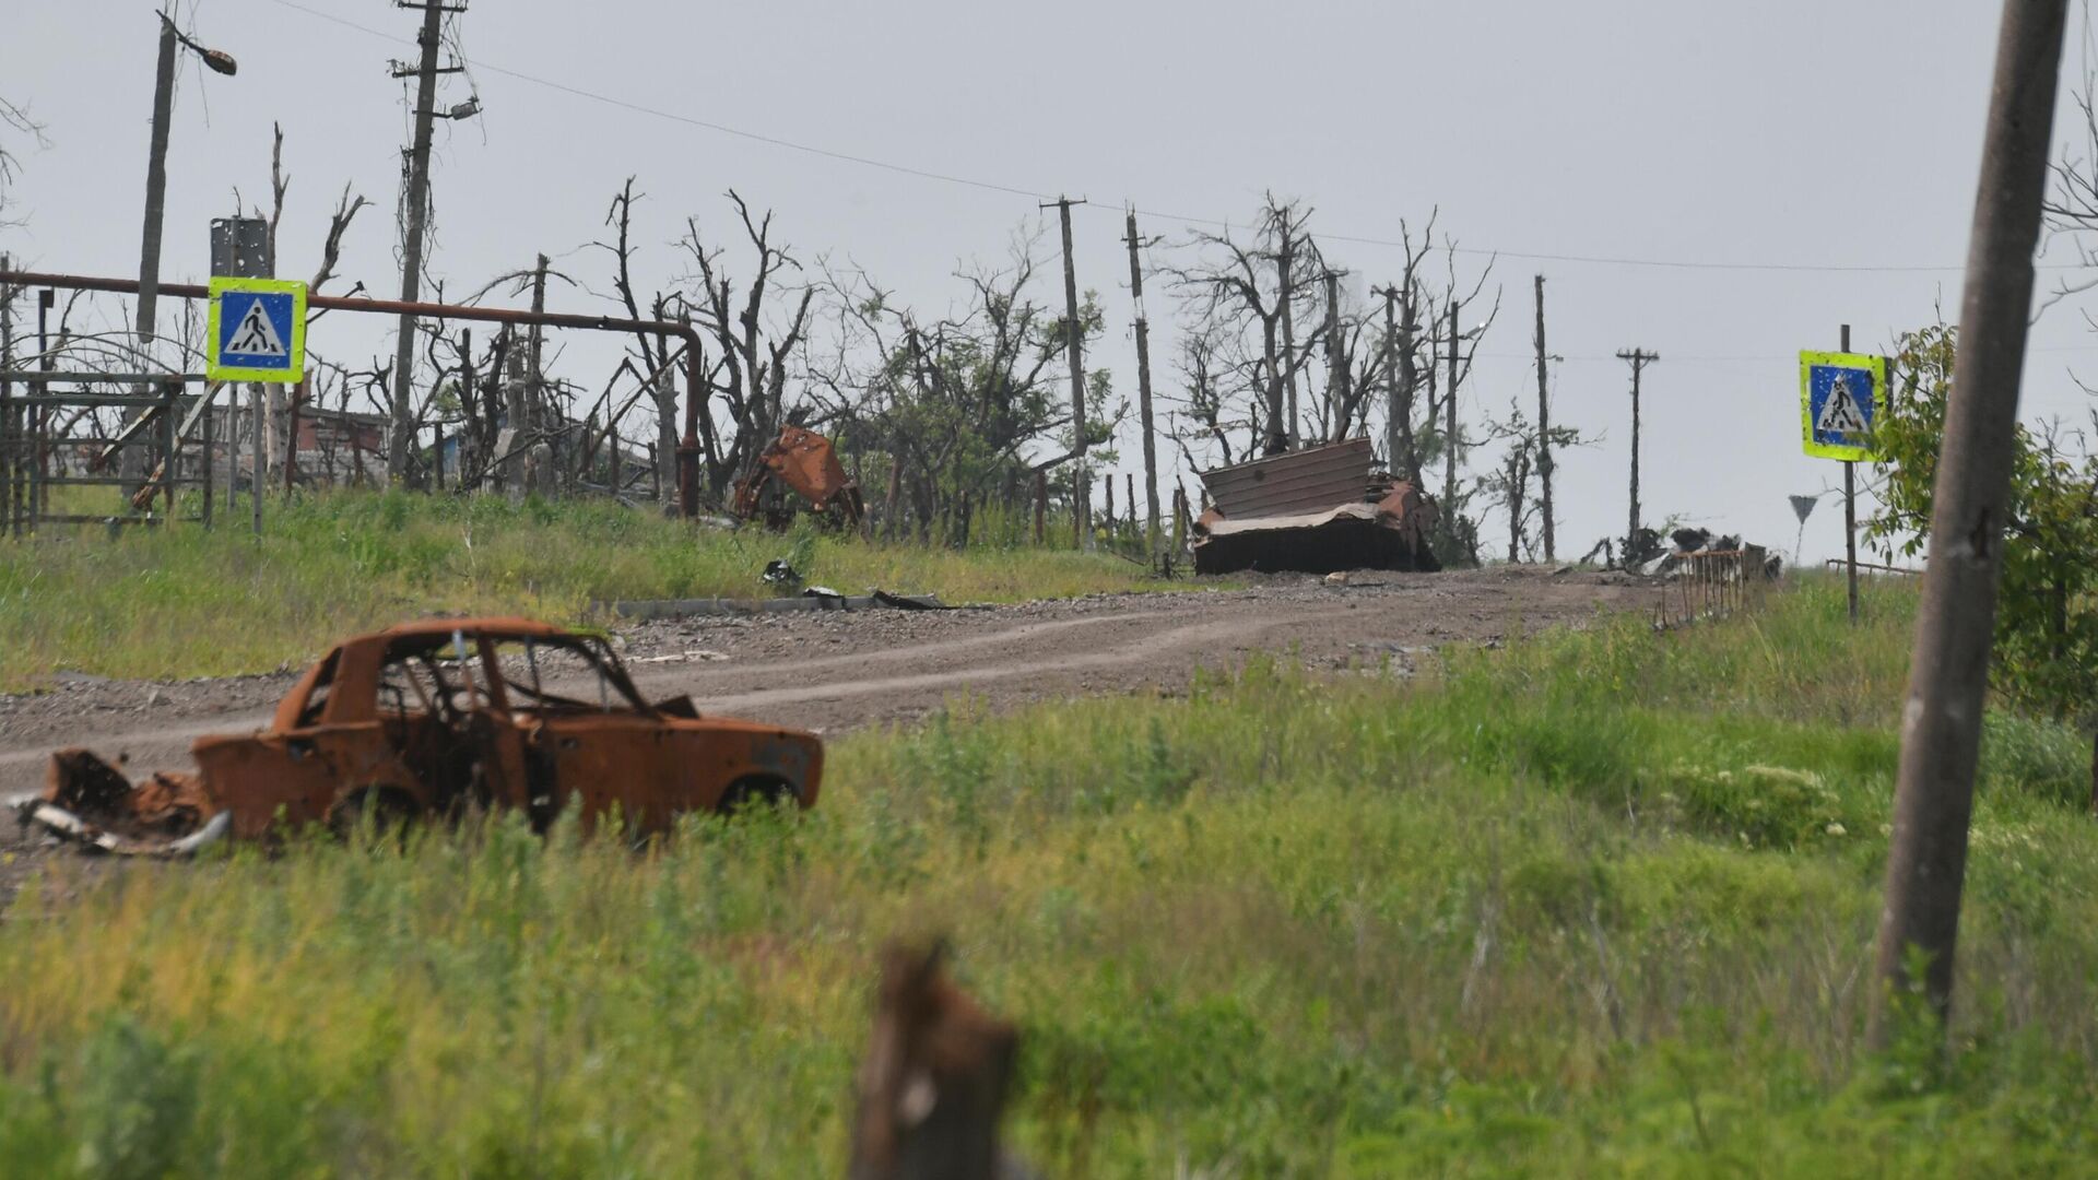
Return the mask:
[[1368,439],[1202,472],[1213,506],[1194,523],[1196,573],[1441,569],[1439,510],[1408,481],[1370,470]]

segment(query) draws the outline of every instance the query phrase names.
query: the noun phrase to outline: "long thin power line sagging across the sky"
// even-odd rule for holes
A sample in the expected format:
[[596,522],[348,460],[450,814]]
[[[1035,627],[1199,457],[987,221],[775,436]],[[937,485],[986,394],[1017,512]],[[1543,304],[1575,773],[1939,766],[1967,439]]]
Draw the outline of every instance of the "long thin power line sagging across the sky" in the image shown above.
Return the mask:
[[[365,36],[371,36],[371,38],[378,38],[378,40],[388,40],[388,42],[394,42],[394,44],[411,44],[405,38],[399,38],[394,34],[388,34],[388,31],[382,31],[382,29],[373,29],[369,25],[359,25],[357,21],[348,21],[348,19],[338,17],[334,13],[323,13],[321,8],[313,8],[308,4],[300,4],[298,0],[271,0],[271,4],[277,4],[279,8],[292,8],[294,13],[304,13],[308,17],[327,21],[331,25],[342,25],[346,29],[355,29],[359,34],[365,34]],[[462,55],[459,61],[464,63],[466,57]],[[932,168],[915,168],[911,164],[896,164],[896,162],[890,162],[890,160],[875,160],[873,155],[854,155],[850,151],[833,151],[829,147],[816,147],[816,145],[808,145],[808,143],[797,143],[797,141],[791,141],[791,139],[780,139],[776,134],[764,134],[764,132],[755,132],[755,130],[743,130],[743,128],[734,128],[734,126],[720,124],[720,122],[713,122],[713,120],[701,120],[701,118],[678,113],[678,111],[665,111],[661,107],[648,107],[644,103],[631,103],[627,99],[615,99],[615,97],[602,94],[598,90],[585,90],[581,86],[571,86],[566,82],[554,82],[552,78],[539,78],[535,73],[524,73],[520,69],[508,69],[504,65],[493,65],[489,61],[476,61],[474,65],[478,65],[480,69],[487,69],[489,73],[501,73],[504,78],[514,78],[518,82],[529,82],[533,86],[545,86],[548,90],[558,90],[558,92],[571,94],[575,99],[587,99],[592,103],[604,103],[604,105],[617,107],[621,111],[634,111],[638,115],[650,115],[650,118],[659,118],[659,120],[667,120],[667,122],[676,122],[676,124],[684,124],[684,126],[694,126],[694,128],[701,128],[701,130],[711,130],[711,132],[718,132],[718,134],[728,134],[728,136],[745,139],[745,141],[751,141],[751,143],[764,143],[768,147],[783,147],[787,151],[799,151],[799,153],[806,153],[806,155],[818,155],[822,160],[837,160],[841,164],[858,164],[862,168],[877,168],[877,170],[883,170],[883,172],[896,172],[896,174],[902,174],[902,176],[915,176],[919,181],[938,181],[942,185],[961,185],[961,187],[969,187],[969,189],[982,189],[982,191],[988,191],[988,193],[1005,193],[1005,195],[1011,195],[1011,197],[1028,197],[1032,202],[1055,202],[1055,195],[1051,195],[1045,189],[1026,189],[1022,185],[1005,185],[1005,183],[999,183],[999,181],[982,181],[982,178],[976,178],[976,176],[961,176],[957,172],[938,172],[938,170],[932,170]],[[1162,210],[1148,208],[1141,202],[1139,202],[1139,208],[1150,218],[1175,220],[1175,223],[1181,223],[1181,225],[1200,225],[1200,227],[1217,227],[1217,229],[1229,229],[1232,225],[1240,225],[1240,227],[1244,225],[1244,220],[1232,223],[1232,220],[1215,218],[1215,216],[1162,212]],[[1114,210],[1108,208],[1108,206],[1099,206],[1093,212],[1114,212]],[[1380,248],[1391,248],[1391,250],[1406,250],[1408,248],[1406,241],[1397,241],[1397,239],[1391,239],[1391,237],[1368,237],[1368,235],[1353,235],[1353,233],[1320,233],[1318,237],[1324,237],[1326,241],[1345,241],[1345,244],[1351,244],[1351,246],[1380,246]],[[1960,262],[1945,265],[1945,267],[1934,267],[1934,265],[1932,267],[1924,267],[1924,265],[1880,267],[1880,265],[1848,265],[1848,262],[1725,262],[1725,260],[1704,260],[1704,258],[1630,258],[1630,256],[1609,256],[1609,254],[1546,254],[1546,252],[1525,252],[1525,250],[1487,250],[1487,248],[1479,248],[1479,246],[1456,246],[1452,250],[1456,254],[1483,256],[1483,258],[1515,258],[1515,260],[1525,260],[1525,262],[1571,262],[1571,265],[1584,265],[1584,267],[1645,267],[1645,269],[1666,269],[1666,271],[1771,271],[1771,273],[1804,273],[1804,275],[1829,275],[1829,273],[1840,273],[1840,275],[1932,275],[1932,273],[1960,273],[1960,271],[1966,269],[1966,265],[1960,265]],[[2041,271],[2081,271],[2081,269],[2090,269],[2090,265],[2085,265],[2085,262],[2041,262],[2039,269]]]

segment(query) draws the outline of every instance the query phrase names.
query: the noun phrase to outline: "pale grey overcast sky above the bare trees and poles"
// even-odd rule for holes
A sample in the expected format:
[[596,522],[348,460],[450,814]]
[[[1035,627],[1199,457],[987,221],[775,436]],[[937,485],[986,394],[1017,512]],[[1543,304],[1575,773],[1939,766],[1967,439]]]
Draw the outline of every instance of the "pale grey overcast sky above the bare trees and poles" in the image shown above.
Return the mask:
[[[418,13],[384,0],[180,8],[239,76],[183,71],[164,277],[204,279],[206,225],[231,212],[235,187],[266,199],[275,120],[294,178],[279,271],[313,273],[350,183],[376,208],[331,290],[397,294],[390,216],[411,94],[386,63],[413,57]],[[153,10],[8,0],[0,94],[31,107],[50,147],[23,157],[10,204],[27,223],[0,229],[0,250],[36,269],[136,273]],[[1418,225],[1439,206],[1460,246],[1500,252],[1506,292],[1469,416],[1534,399],[1529,279],[1546,275],[1550,351],[1565,357],[1553,416],[1599,437],[1561,458],[1563,554],[1624,529],[1630,407],[1613,353],[1634,344],[1662,355],[1643,386],[1649,523],[1680,514],[1790,550],[1785,493],[1842,483],[1838,464],[1800,454],[1796,353],[1834,349],[1844,321],[1867,351],[1939,307],[1957,317],[1995,21],[1981,0],[474,0],[459,25],[472,71],[443,82],[441,105],[478,92],[485,113],[438,124],[430,267],[464,294],[543,250],[587,283],[556,288],[554,309],[608,311],[606,258],[579,248],[638,174],[644,288],[682,273],[669,241],[688,214],[720,237],[734,229],[722,199],[734,187],[776,210],[806,260],[850,258],[936,311],[961,298],[957,260],[997,260],[1041,216],[1022,193],[1068,191],[1093,202],[1076,214],[1078,281],[1110,321],[1089,363],[1133,395],[1122,202],[1146,233],[1173,237],[1185,227],[1164,214],[1246,220],[1263,189],[1309,204],[1322,235],[1395,239],[1401,216]],[[2058,130],[2071,143],[2079,126]],[[1326,250],[1364,286],[1397,273],[1391,248]],[[2048,252],[2073,258],[2064,244]],[[1041,260],[1053,277],[1053,233]],[[1039,290],[1057,296],[1053,281]],[[1164,328],[1169,300],[1148,302]],[[2071,372],[2098,370],[2098,338],[2083,307],[2098,294],[2041,317],[2027,416],[2085,418]],[[329,317],[311,346],[390,359],[382,328]],[[608,363],[581,361],[604,344],[581,336],[562,340],[566,372],[594,384]],[[1171,340],[1154,357],[1171,382]],[[1137,449],[1122,451],[1129,470]],[[1485,538],[1498,550],[1504,527],[1490,521]],[[1806,559],[1836,552],[1829,498]]]

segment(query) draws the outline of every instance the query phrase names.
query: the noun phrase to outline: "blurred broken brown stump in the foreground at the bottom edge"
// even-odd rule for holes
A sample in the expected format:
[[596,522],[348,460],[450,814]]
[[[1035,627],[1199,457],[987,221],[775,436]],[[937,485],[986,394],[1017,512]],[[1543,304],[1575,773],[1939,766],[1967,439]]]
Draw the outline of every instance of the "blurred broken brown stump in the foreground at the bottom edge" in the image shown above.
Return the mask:
[[1018,1180],[999,1151],[1020,1031],[942,968],[944,943],[881,951],[875,1031],[860,1062],[852,1180]]

